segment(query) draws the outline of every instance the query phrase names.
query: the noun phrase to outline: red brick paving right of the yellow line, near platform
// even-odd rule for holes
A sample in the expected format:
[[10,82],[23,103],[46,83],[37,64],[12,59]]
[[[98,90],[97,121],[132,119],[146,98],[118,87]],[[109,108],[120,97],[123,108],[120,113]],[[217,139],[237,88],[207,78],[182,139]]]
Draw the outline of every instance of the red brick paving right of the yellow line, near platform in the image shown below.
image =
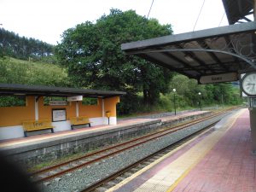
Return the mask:
[[251,154],[248,111],[173,192],[256,192],[256,156]]

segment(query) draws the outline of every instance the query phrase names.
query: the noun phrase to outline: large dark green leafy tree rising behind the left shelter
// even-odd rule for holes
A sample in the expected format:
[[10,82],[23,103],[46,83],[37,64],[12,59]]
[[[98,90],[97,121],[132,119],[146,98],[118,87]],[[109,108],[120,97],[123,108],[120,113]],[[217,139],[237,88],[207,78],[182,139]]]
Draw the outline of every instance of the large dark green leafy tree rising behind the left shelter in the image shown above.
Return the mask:
[[160,92],[168,90],[171,73],[137,56],[125,55],[120,45],[170,34],[170,25],[160,25],[133,10],[111,9],[96,23],[86,21],[63,32],[55,54],[78,86],[125,90],[127,99],[140,91],[144,102],[151,104]]

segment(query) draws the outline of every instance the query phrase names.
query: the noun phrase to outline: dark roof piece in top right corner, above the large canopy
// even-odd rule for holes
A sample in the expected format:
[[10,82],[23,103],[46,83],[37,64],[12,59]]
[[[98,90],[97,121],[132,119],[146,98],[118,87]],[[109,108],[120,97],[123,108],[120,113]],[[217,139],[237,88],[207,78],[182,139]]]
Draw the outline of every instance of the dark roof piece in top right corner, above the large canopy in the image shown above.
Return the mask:
[[253,15],[253,0],[222,0],[230,25],[236,22],[250,22]]

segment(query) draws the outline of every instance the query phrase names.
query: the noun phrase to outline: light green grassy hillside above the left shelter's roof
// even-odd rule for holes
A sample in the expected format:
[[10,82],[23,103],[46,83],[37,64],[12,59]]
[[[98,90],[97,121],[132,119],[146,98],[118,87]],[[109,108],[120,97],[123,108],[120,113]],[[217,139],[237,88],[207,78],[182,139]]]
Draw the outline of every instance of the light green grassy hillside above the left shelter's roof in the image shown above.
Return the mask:
[[0,83],[70,85],[66,70],[57,65],[11,57],[0,59]]

